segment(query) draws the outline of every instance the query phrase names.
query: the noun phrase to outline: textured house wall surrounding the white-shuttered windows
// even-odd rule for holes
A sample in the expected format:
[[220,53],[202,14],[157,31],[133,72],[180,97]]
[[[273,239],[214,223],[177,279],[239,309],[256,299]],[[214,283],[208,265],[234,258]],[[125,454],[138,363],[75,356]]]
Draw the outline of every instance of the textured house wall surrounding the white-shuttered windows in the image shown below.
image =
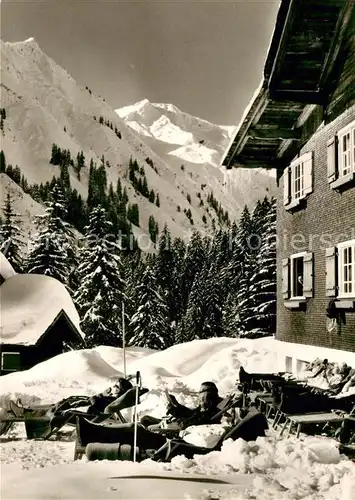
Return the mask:
[[[293,213],[283,204],[283,181],[279,183],[277,203],[277,334],[285,342],[318,345],[355,352],[355,310],[345,313],[345,324],[338,324],[336,331],[328,333],[326,309],[330,297],[326,296],[325,246],[355,238],[355,187],[342,192],[331,189],[327,179],[327,141],[355,120],[355,105],[337,116],[331,123],[322,125],[302,148],[300,154],[313,151],[313,192],[306,200],[306,207]],[[304,243],[295,235],[304,237]],[[319,236],[316,236],[319,235]],[[329,244],[320,241],[327,236]],[[293,238],[293,239],[292,239]],[[292,241],[294,244],[292,244]],[[296,244],[295,244],[296,241]],[[282,297],[282,259],[290,255],[312,251],[314,253],[314,294],[306,310],[289,310]]]

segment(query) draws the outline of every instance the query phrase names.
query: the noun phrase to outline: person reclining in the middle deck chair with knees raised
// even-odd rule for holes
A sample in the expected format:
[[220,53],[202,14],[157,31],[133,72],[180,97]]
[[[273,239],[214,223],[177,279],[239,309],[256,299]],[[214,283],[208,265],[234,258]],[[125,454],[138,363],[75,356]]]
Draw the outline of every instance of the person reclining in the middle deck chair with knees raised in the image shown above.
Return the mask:
[[[222,398],[218,394],[216,384],[213,382],[203,382],[199,390],[199,405],[196,408],[188,408],[180,404],[175,396],[169,395],[167,406],[167,424],[175,424],[176,428],[185,429],[190,425],[203,425],[211,423],[211,420],[219,413],[218,405]],[[214,423],[220,423],[222,414],[214,419]],[[161,429],[162,419],[145,415],[141,419],[141,424],[152,431]]]

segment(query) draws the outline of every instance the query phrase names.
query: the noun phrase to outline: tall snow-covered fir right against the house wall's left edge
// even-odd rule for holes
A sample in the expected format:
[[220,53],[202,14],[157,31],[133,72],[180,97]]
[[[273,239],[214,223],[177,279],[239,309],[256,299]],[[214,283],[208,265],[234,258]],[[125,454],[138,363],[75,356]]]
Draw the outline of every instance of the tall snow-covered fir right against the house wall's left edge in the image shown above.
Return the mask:
[[260,337],[275,329],[275,203],[258,202],[252,215],[245,208],[235,235],[229,289],[222,328],[228,336]]

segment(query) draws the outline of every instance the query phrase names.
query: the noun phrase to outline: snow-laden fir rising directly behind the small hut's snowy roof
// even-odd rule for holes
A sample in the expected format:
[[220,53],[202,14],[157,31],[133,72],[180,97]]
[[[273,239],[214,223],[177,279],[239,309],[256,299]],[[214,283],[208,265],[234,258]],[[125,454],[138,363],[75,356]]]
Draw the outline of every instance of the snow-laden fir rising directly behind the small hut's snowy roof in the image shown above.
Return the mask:
[[26,269],[28,273],[45,274],[68,285],[75,243],[70,226],[64,221],[66,213],[63,190],[56,183],[46,202],[45,214],[35,218],[38,233],[30,242]]

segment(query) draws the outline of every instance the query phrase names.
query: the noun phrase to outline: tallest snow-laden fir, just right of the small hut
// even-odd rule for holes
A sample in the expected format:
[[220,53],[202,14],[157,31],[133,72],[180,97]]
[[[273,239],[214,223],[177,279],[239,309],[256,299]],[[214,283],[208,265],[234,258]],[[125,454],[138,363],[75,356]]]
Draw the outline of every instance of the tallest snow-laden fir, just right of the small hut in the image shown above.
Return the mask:
[[112,223],[98,206],[89,216],[85,244],[77,270],[79,288],[75,302],[81,316],[81,328],[89,347],[122,345],[121,312],[124,280],[119,247],[110,236]]

